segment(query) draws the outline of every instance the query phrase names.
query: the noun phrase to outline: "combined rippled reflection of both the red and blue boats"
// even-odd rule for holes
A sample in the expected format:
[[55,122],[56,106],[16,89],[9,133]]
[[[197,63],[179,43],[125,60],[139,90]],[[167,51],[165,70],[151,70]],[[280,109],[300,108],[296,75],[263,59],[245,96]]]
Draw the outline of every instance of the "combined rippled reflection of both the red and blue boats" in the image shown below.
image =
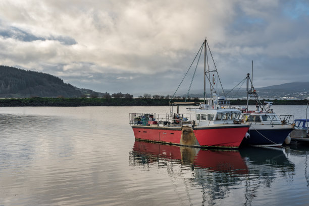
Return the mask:
[[[129,164],[143,172],[166,169],[175,191],[190,196],[183,203],[193,205],[234,205],[235,195],[239,204],[259,204],[259,194],[275,187],[276,178],[292,179],[294,171],[278,149],[202,150],[143,141],[135,141]],[[165,185],[164,173],[160,182]]]

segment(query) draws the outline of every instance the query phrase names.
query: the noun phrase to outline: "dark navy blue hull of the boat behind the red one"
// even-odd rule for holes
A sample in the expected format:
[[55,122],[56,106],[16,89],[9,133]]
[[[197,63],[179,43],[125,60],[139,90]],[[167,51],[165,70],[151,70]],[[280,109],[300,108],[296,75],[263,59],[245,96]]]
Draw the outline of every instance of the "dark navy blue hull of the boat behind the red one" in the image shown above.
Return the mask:
[[292,128],[282,129],[249,129],[250,138],[244,138],[240,146],[279,146],[284,143]]

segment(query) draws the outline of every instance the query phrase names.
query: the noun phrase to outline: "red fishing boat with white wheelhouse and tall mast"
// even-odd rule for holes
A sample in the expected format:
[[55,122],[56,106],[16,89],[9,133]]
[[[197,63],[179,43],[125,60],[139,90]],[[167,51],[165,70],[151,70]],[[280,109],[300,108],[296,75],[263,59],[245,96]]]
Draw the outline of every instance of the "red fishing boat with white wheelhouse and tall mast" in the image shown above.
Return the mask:
[[[205,58],[207,46],[205,40],[199,50],[202,52],[204,48]],[[210,81],[211,97],[209,100],[205,97],[205,79],[211,79],[210,73],[218,74],[217,69],[210,71],[208,68],[206,71],[204,61],[203,103],[170,102],[170,112],[165,114],[130,113],[135,139],[192,147],[238,148],[244,136],[248,135],[250,125],[239,124],[241,111],[231,108],[225,96],[217,95],[215,75]],[[179,105],[182,104],[198,107],[190,108],[191,113],[179,113]],[[174,112],[174,106],[177,106],[177,112]]]

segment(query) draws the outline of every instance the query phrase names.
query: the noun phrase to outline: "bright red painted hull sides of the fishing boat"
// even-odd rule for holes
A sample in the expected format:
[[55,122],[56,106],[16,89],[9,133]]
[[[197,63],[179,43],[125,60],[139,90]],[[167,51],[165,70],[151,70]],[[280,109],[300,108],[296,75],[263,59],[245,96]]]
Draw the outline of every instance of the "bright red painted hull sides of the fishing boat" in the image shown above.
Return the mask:
[[238,148],[249,125],[208,126],[191,129],[197,144],[181,141],[181,127],[132,126],[135,139],[193,147]]

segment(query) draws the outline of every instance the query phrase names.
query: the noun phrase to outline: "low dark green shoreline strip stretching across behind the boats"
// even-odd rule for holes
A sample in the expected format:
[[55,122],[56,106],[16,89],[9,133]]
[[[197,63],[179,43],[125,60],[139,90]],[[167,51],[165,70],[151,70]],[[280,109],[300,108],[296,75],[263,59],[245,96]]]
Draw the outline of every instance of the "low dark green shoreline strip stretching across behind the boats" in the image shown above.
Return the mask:
[[[22,106],[56,106],[56,107],[78,107],[78,106],[167,106],[169,99],[144,99],[144,98],[5,98],[0,99],[1,107]],[[202,102],[202,100],[187,100],[187,102]],[[307,105],[308,100],[266,100],[273,105]],[[174,100],[184,102],[184,100]],[[245,105],[246,100],[230,100],[231,105]],[[249,100],[249,105],[255,105],[254,100]]]

